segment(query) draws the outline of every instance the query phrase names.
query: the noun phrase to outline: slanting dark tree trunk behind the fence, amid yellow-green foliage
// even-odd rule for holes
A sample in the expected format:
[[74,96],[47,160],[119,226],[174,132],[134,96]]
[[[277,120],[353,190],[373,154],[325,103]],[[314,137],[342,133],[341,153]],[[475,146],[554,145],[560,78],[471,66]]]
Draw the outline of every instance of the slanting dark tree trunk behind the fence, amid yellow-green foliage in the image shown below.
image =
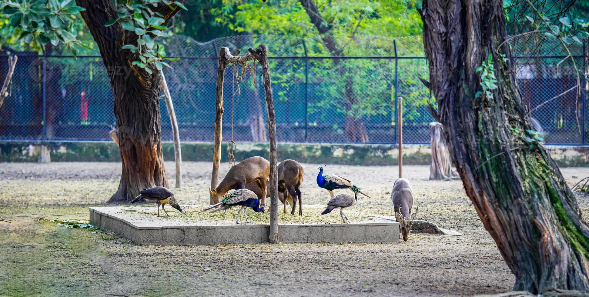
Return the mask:
[[[313,0],[300,0],[300,4],[305,8],[307,15],[313,26],[317,29],[319,34],[321,35],[321,39],[327,51],[330,52],[333,56],[341,56],[342,50],[337,47],[335,39],[333,39],[333,35],[331,34],[332,26],[329,24],[322,15],[319,13],[317,6]],[[337,72],[337,77],[344,78],[344,98],[345,98],[345,106],[346,111],[348,114],[345,115],[345,131],[346,131],[346,140],[353,143],[367,143],[368,139],[368,132],[366,131],[366,126],[364,125],[363,121],[359,118],[353,117],[350,113],[353,113],[353,105],[356,103],[356,93],[353,89],[353,81],[352,81],[352,73],[346,73],[345,66],[340,62],[339,59],[333,60],[333,65],[335,67],[335,71]]]

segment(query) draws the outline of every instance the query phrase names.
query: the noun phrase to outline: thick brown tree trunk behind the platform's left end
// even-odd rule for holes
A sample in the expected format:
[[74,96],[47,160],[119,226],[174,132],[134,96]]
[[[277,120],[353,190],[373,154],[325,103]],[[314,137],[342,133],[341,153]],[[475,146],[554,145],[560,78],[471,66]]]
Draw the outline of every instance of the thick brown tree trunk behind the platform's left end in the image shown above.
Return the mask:
[[[160,71],[155,70],[153,62],[148,65],[153,74],[131,65],[138,60],[137,53],[121,47],[137,43],[134,32],[123,30],[118,23],[104,27],[111,19],[117,19],[117,8],[111,1],[76,0],[76,3],[86,9],[81,15],[100,49],[114,96],[123,168],[118,190],[108,203],[128,202],[148,187],[168,187],[161,148]],[[166,23],[178,11],[166,5],[151,6],[151,9],[163,14]]]

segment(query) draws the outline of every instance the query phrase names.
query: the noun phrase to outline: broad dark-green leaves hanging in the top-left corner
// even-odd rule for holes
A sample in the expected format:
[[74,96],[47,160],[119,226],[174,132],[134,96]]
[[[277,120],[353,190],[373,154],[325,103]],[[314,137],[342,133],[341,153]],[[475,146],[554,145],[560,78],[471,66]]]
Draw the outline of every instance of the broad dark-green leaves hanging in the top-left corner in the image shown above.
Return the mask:
[[0,8],[5,18],[2,33],[12,33],[12,42],[18,38],[27,44],[62,43],[75,56],[81,48],[90,48],[77,38],[75,22],[84,10],[74,0],[4,1]]

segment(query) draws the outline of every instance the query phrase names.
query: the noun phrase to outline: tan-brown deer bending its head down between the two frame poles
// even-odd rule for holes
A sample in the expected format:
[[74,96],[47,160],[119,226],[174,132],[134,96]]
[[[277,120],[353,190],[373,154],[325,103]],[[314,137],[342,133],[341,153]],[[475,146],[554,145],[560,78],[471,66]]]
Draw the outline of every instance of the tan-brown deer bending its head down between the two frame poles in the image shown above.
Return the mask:
[[246,184],[256,182],[262,192],[262,204],[266,204],[266,180],[270,175],[270,161],[262,157],[250,157],[235,164],[214,189],[209,190],[213,203],[217,204],[229,190],[244,189]]

